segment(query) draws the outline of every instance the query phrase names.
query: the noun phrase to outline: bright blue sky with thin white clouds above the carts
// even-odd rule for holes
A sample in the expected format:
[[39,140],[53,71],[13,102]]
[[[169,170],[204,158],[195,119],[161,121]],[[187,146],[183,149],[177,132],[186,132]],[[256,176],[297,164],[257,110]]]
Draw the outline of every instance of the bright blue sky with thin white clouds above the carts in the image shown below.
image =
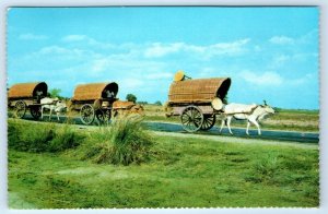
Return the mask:
[[12,8],[8,85],[119,84],[167,100],[173,75],[230,76],[230,103],[318,109],[318,8]]

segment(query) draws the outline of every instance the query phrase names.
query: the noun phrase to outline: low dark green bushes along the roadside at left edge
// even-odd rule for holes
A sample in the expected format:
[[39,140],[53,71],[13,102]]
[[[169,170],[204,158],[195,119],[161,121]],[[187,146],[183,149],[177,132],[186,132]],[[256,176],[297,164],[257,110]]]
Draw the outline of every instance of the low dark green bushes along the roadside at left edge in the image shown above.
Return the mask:
[[60,152],[75,147],[82,141],[68,124],[24,124],[19,120],[8,122],[8,145],[24,152]]

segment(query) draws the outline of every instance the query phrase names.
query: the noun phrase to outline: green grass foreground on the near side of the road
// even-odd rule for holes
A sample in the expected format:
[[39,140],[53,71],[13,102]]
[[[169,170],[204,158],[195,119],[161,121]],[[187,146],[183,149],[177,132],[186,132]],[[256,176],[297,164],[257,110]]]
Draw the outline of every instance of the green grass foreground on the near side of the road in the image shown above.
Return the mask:
[[8,122],[11,209],[319,205],[314,144],[150,132],[150,158],[124,166],[90,158],[102,128]]

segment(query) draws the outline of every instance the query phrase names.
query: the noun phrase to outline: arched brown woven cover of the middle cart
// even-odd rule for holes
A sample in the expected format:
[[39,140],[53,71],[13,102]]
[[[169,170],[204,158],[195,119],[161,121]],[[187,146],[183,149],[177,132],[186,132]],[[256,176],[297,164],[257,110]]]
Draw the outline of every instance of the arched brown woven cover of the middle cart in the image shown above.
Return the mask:
[[112,83],[89,83],[75,87],[73,100],[95,100],[99,98],[109,98],[108,93],[113,93],[115,98],[118,92],[118,84]]

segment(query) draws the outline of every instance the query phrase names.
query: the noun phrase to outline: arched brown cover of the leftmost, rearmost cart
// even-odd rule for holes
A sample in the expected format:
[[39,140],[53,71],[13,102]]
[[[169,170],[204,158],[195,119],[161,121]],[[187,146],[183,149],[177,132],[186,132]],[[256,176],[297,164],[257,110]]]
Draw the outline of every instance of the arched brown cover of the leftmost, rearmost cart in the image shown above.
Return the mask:
[[45,82],[19,83],[10,87],[8,98],[33,98],[47,96],[48,85]]

